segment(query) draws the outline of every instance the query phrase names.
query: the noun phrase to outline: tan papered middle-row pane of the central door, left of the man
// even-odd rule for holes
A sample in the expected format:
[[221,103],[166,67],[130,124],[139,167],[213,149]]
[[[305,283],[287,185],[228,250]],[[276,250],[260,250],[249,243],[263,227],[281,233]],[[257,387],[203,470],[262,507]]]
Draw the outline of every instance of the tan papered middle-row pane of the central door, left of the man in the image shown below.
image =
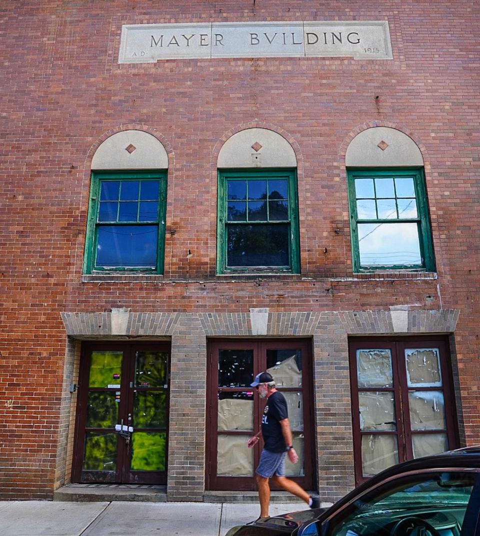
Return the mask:
[[253,391],[219,392],[219,430],[253,430]]

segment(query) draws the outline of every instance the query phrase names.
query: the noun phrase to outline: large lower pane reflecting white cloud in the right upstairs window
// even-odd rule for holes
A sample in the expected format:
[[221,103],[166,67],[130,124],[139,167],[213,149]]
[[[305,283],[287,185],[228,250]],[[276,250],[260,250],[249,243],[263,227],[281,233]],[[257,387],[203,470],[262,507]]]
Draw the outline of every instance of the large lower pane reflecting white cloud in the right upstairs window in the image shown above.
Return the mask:
[[362,266],[421,266],[416,223],[358,224]]

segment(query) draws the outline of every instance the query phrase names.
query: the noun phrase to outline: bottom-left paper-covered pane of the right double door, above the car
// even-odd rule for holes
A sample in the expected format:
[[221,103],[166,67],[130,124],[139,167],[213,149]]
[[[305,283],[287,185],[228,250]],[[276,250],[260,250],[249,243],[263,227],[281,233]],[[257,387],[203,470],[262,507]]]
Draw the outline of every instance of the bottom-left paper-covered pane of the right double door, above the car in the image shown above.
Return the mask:
[[399,463],[399,452],[394,435],[362,436],[362,472],[364,477],[373,477],[387,467]]

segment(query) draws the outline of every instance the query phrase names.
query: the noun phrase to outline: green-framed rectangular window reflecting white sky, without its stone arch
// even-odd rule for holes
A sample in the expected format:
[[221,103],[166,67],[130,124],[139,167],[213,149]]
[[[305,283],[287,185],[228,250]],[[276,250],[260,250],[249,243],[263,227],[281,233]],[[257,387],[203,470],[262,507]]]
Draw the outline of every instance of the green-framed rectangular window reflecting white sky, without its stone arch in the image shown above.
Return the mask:
[[350,168],[347,177],[354,272],[433,272],[423,168]]

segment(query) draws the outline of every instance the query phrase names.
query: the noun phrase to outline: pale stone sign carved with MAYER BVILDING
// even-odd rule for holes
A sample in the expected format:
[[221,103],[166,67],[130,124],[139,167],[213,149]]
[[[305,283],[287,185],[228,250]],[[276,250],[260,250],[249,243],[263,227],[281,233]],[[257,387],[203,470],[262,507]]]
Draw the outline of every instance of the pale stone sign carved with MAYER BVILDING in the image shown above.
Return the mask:
[[126,24],[118,63],[302,56],[392,59],[388,22]]

